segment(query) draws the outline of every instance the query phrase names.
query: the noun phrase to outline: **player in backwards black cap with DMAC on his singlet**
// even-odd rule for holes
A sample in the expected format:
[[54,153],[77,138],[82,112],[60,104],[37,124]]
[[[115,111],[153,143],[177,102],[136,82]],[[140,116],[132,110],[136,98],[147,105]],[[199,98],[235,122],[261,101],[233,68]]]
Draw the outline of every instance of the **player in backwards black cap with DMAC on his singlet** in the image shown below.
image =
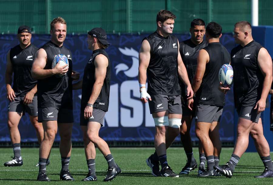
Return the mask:
[[82,88],[80,125],[88,165],[88,174],[82,181],[96,181],[95,157],[98,147],[108,163],[103,181],[113,180],[121,169],[114,161],[107,143],[99,137],[99,129],[109,106],[111,65],[105,49],[109,43],[102,28],[94,28],[87,35],[88,49],[92,56],[84,68],[83,80],[73,84],[73,89]]

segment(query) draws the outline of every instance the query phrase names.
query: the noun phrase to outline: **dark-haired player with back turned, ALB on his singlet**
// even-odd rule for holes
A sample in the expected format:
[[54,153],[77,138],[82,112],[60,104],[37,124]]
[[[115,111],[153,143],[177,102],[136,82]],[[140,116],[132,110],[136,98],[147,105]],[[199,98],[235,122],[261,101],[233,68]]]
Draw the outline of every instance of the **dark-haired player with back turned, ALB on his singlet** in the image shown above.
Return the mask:
[[[220,156],[221,152],[219,126],[225,96],[218,90],[218,73],[223,64],[230,63],[230,55],[220,43],[221,36],[222,27],[216,22],[208,23],[206,26],[208,46],[199,51],[196,73],[192,80],[192,89],[196,93],[197,101],[195,133],[201,141],[207,159],[207,170],[199,173],[199,177],[217,175],[213,169],[214,156]],[[214,142],[211,138],[214,138]]]

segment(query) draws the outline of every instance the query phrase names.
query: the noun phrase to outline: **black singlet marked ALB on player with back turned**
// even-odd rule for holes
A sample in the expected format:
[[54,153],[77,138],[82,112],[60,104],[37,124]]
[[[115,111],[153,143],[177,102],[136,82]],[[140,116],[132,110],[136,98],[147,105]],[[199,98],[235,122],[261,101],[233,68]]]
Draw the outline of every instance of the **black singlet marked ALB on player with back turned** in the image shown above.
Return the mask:
[[206,69],[202,83],[196,92],[198,104],[224,106],[225,95],[219,91],[220,84],[218,74],[223,64],[229,64],[230,54],[221,43],[209,43],[204,48],[209,54],[210,60],[206,64]]

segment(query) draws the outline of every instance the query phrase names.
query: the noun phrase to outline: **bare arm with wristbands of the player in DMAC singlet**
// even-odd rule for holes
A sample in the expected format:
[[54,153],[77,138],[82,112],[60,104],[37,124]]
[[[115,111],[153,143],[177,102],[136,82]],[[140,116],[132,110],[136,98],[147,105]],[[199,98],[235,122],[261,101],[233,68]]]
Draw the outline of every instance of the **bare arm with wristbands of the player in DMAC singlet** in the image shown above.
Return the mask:
[[[95,58],[94,65],[95,65],[95,83],[94,83],[89,101],[87,102],[88,104],[92,104],[92,105],[98,98],[101,88],[103,86],[103,81],[106,77],[106,70],[108,66],[107,57],[104,56],[103,54],[99,54]],[[93,107],[87,105],[84,109],[84,117],[86,119],[90,118],[92,116],[92,112],[93,112]]]

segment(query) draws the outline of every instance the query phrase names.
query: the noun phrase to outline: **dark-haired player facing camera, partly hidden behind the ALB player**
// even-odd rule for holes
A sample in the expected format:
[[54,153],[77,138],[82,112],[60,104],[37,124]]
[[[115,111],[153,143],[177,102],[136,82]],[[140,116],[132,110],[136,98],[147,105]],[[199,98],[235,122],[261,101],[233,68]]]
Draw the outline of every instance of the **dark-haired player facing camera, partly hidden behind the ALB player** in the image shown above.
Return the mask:
[[[190,39],[184,40],[180,43],[180,55],[187,69],[187,74],[192,82],[197,66],[197,56],[201,49],[207,46],[207,41],[204,40],[205,22],[202,19],[194,19],[190,23]],[[195,118],[196,99],[194,98],[194,105],[192,110],[187,106],[187,92],[184,84],[181,84],[181,101],[182,101],[182,125],[180,126],[180,138],[187,156],[187,163],[181,170],[180,174],[189,174],[191,170],[197,168],[196,160],[194,159],[192,151],[192,142],[190,137],[190,127],[192,119]],[[199,170],[198,174],[205,170],[206,157],[201,144],[199,145]]]

